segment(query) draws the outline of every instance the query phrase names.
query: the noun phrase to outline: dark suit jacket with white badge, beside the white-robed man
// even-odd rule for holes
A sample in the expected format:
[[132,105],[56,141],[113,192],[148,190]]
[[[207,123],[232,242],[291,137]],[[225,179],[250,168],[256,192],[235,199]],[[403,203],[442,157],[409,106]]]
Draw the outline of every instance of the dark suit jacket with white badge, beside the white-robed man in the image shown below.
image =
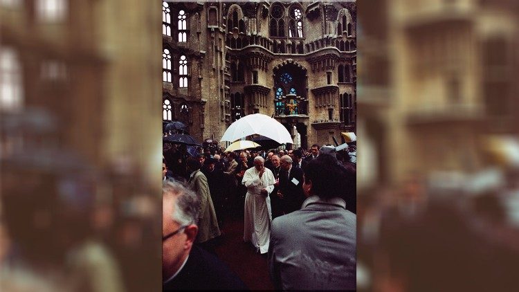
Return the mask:
[[[298,180],[295,185],[292,180]],[[301,208],[304,201],[304,192],[302,190],[303,171],[298,167],[292,167],[290,176],[286,178],[286,170],[280,172],[280,190],[283,194],[284,212],[289,213]]]

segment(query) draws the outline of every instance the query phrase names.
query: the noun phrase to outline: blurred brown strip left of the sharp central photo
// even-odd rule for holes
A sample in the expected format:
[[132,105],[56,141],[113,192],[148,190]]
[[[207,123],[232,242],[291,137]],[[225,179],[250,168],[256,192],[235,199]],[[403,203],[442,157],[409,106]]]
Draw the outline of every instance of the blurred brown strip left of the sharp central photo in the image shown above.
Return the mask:
[[0,290],[159,291],[161,2],[0,0],[0,29]]

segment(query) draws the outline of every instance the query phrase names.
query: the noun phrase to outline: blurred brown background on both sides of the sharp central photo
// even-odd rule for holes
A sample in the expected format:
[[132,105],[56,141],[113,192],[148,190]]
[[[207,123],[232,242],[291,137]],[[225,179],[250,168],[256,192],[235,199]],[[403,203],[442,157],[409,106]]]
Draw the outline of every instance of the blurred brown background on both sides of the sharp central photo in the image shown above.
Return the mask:
[[[518,12],[358,1],[359,291],[518,289]],[[160,21],[0,0],[1,291],[161,289]]]

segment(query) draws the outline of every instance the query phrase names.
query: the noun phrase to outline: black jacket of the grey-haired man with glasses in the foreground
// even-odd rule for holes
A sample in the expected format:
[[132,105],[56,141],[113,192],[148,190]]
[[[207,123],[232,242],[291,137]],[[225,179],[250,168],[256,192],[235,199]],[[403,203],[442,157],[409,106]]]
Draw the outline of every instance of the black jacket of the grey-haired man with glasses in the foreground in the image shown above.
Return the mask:
[[163,291],[173,290],[248,290],[228,266],[203,248],[194,245],[182,270],[163,284]]

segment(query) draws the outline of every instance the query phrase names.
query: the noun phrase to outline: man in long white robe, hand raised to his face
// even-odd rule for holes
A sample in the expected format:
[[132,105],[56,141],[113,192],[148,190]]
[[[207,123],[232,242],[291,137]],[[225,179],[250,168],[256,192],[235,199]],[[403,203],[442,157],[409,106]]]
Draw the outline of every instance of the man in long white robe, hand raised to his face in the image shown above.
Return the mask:
[[244,210],[244,241],[260,250],[268,251],[268,241],[271,237],[271,219],[268,212],[270,203],[268,195],[274,190],[274,174],[263,166],[264,159],[257,156],[254,167],[246,170],[242,183],[247,188]]

